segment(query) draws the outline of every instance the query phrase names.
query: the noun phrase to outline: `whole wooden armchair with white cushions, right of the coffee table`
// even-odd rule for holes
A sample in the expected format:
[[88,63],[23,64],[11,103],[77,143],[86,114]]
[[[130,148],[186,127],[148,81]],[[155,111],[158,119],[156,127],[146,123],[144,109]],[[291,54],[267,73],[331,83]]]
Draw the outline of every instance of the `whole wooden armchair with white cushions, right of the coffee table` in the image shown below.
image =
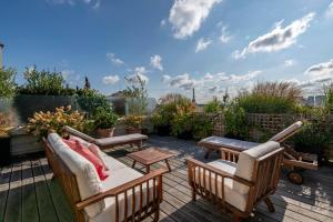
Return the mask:
[[274,212],[269,198],[278,188],[283,152],[280,143],[269,141],[241,152],[238,163],[188,159],[192,200],[195,201],[198,194],[219,209],[231,211],[234,222],[249,218],[260,201]]

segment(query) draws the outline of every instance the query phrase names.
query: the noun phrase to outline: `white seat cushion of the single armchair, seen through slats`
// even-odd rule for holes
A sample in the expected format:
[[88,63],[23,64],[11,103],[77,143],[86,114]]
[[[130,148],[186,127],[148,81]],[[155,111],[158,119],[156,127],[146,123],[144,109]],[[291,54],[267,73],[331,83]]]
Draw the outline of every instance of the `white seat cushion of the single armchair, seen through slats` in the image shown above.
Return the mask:
[[[224,171],[226,173],[230,174],[234,174],[235,170],[236,170],[236,164],[230,161],[225,161],[225,160],[216,160],[213,162],[208,163],[209,165],[216,168],[221,171]],[[201,178],[201,186],[203,186],[203,169],[200,168],[200,178]],[[216,194],[215,191],[215,174],[211,173],[211,178],[210,178],[210,173],[208,171],[205,171],[205,186],[208,190],[210,190],[210,180],[211,180],[211,192],[213,194]],[[222,199],[222,176],[216,178],[218,180],[218,196]],[[233,185],[233,180],[231,179],[224,179],[224,200],[225,202],[228,202],[229,204],[235,206],[236,209],[241,210],[241,211],[245,211],[246,209],[246,200],[248,200],[248,195],[246,194],[242,194],[239,193],[236,190],[234,190],[234,185]],[[199,168],[195,169],[195,183],[199,184]]]

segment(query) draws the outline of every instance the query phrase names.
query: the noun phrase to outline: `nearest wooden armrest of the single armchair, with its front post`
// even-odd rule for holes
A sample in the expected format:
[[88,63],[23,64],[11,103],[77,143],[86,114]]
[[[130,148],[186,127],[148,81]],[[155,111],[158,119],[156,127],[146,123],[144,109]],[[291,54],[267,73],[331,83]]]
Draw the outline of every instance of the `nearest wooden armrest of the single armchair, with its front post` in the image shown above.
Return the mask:
[[[222,176],[222,178],[229,178],[229,179],[232,179],[232,180],[234,180],[234,181],[236,181],[236,182],[239,182],[239,183],[242,183],[242,184],[244,184],[244,185],[248,185],[249,188],[254,186],[254,183],[253,183],[252,181],[248,181],[248,180],[245,180],[245,179],[243,179],[243,178],[240,178],[240,176],[230,174],[230,173],[228,173],[228,172],[225,172],[225,171],[223,171],[223,170],[220,170],[220,169],[218,169],[218,168],[213,168],[213,167],[211,167],[211,165],[209,165],[209,164],[205,164],[205,163],[203,163],[203,162],[201,162],[201,161],[194,160],[194,159],[192,159],[192,158],[186,159],[186,161],[188,161],[188,167],[189,167],[189,169],[190,169],[190,168],[193,168],[193,167],[194,167],[194,168],[195,168],[195,167],[199,167],[199,168],[202,168],[202,169],[206,170],[208,172],[215,173],[215,174],[218,174],[218,175],[220,175],[220,176]],[[191,176],[193,178],[192,171],[191,171],[191,170],[189,170],[189,176],[190,176],[190,178],[191,178]],[[192,181],[192,178],[189,179],[189,182],[190,182],[190,183],[191,183],[191,181]],[[190,185],[191,185],[191,184],[190,184]]]

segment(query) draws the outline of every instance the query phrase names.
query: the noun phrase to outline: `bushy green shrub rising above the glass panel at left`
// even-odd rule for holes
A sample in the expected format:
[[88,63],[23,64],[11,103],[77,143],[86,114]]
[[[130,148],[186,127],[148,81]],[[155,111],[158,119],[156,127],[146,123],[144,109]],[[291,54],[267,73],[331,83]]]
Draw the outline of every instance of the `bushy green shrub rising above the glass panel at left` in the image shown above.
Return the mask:
[[65,88],[65,81],[61,72],[38,71],[33,67],[33,69],[26,68],[23,75],[27,83],[19,88],[21,94],[68,95],[75,93],[74,89]]

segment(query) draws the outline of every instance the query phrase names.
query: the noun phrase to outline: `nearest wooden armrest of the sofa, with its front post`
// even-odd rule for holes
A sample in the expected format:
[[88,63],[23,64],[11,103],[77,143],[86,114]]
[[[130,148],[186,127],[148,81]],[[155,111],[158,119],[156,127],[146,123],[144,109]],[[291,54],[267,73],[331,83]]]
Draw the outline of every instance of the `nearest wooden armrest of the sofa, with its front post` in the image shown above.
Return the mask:
[[168,170],[164,169],[164,168],[161,168],[161,169],[158,169],[158,170],[154,170],[154,171],[151,171],[150,173],[148,174],[144,174],[135,180],[132,180],[132,181],[129,181],[124,184],[121,184],[117,188],[113,188],[113,189],[110,189],[103,193],[100,193],[100,194],[97,194],[97,195],[93,195],[89,199],[85,199],[81,202],[78,202],[77,203],[77,209],[78,210],[82,210],[84,209],[85,206],[88,205],[91,205],[93,203],[97,203],[105,198],[111,198],[111,196],[118,196],[119,194],[121,193],[125,193],[128,190],[131,190],[131,189],[134,189],[135,186],[140,185],[140,184],[143,184],[145,182],[149,182],[150,180],[155,180],[158,179],[159,180],[159,195],[162,194],[162,174],[167,173]]

